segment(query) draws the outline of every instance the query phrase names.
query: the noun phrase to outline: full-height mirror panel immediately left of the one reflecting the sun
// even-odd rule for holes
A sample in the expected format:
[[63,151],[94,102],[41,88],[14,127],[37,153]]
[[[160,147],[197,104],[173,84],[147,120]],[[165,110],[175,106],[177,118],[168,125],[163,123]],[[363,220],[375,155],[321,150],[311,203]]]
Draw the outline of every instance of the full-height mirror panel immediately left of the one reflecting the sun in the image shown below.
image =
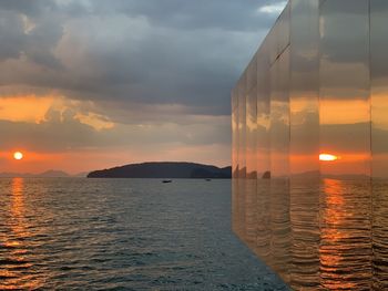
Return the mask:
[[318,1],[292,1],[290,287],[319,287],[319,21]]

